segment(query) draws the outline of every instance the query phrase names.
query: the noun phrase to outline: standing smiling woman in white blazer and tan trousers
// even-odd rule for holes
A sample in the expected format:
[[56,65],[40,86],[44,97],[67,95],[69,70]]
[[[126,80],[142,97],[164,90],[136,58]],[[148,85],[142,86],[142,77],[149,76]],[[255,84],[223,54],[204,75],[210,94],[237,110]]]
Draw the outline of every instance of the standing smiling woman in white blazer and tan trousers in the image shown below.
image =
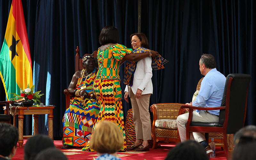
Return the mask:
[[[134,53],[150,52],[147,49],[148,39],[145,34],[135,33],[130,36],[130,39]],[[148,107],[150,95],[153,93],[151,63],[151,56],[148,56],[137,62],[127,61],[125,67],[125,81],[129,85],[126,85],[124,90],[124,99],[128,103],[128,95],[131,99],[136,133],[135,143],[127,150],[149,151],[148,140],[151,140],[151,123]],[[143,143],[141,144],[142,139]]]

